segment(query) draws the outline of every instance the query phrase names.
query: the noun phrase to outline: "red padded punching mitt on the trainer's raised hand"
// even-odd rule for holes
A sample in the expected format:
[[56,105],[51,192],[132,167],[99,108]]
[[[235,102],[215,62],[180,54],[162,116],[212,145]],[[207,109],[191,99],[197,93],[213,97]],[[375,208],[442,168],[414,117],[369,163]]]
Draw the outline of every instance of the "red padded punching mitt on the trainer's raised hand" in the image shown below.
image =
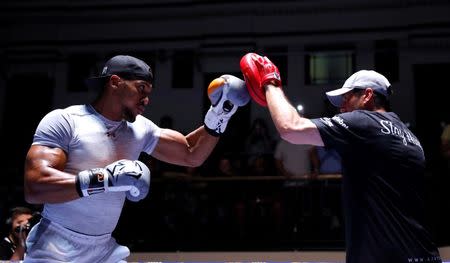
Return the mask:
[[241,72],[245,84],[253,100],[263,107],[267,107],[264,86],[273,84],[281,87],[280,71],[267,57],[255,53],[247,53],[240,61]]

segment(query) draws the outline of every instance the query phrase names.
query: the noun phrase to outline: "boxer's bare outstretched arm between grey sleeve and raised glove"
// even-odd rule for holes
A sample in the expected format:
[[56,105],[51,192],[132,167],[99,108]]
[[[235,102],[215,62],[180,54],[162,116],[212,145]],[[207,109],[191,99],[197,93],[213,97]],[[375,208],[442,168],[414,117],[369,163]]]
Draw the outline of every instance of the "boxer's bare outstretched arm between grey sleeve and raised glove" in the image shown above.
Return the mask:
[[203,126],[187,136],[163,129],[152,156],[176,165],[197,167],[208,158],[218,141],[219,137],[209,135]]

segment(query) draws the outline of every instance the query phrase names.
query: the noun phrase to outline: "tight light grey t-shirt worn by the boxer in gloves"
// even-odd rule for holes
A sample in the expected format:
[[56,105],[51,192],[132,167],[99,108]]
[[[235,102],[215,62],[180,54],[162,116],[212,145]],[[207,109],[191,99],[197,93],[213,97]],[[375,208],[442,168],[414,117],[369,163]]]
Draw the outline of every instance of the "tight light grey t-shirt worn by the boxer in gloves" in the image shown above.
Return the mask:
[[[33,145],[61,148],[67,154],[65,172],[78,174],[120,159],[151,154],[161,129],[138,115],[136,121],[111,121],[90,105],[75,105],[48,113],[39,123]],[[87,234],[112,233],[122,211],[125,192],[107,192],[64,203],[44,204],[42,215],[70,230]]]

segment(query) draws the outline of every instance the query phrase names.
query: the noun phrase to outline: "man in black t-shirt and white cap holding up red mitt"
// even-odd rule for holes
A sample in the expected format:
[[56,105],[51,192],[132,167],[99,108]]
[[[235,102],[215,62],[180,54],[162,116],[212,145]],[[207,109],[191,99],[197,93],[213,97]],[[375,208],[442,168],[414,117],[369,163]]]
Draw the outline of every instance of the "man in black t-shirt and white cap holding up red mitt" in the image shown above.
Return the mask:
[[392,88],[373,70],[327,92],[332,118],[299,116],[267,57],[240,61],[252,98],[267,106],[282,139],[336,149],[342,157],[347,263],[441,262],[424,222],[425,157],[417,137],[389,110]]

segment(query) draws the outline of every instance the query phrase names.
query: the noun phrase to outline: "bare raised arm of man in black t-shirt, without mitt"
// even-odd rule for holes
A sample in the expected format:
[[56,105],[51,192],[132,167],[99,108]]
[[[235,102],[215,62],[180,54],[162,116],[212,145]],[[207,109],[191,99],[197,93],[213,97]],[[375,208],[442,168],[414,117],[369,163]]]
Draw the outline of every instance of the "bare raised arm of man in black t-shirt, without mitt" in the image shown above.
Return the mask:
[[270,115],[281,138],[293,144],[323,146],[316,125],[311,120],[298,115],[283,90],[271,84],[265,88]]

